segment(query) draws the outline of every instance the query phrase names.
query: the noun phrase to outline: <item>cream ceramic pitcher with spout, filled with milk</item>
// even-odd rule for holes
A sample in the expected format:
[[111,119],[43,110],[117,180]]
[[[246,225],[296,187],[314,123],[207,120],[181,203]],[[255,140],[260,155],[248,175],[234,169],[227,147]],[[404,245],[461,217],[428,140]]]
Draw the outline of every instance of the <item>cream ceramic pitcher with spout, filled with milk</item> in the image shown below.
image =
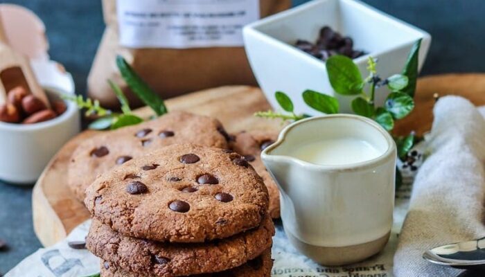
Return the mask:
[[[377,154],[352,162],[359,150],[342,148],[332,153],[340,155],[333,165],[294,155],[312,143],[349,139],[369,143]],[[285,127],[261,157],[279,186],[281,218],[294,247],[321,265],[358,262],[385,247],[393,221],[396,155],[389,133],[362,116],[318,116]]]

